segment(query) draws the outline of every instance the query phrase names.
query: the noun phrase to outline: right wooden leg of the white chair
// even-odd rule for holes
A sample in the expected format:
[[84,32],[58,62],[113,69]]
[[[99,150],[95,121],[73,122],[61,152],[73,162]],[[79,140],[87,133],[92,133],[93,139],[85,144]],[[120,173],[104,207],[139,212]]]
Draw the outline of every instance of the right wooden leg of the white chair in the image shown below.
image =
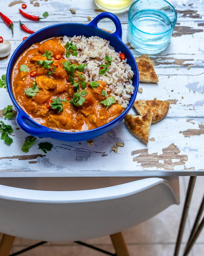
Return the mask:
[[122,232],[110,235],[117,256],[130,256]]

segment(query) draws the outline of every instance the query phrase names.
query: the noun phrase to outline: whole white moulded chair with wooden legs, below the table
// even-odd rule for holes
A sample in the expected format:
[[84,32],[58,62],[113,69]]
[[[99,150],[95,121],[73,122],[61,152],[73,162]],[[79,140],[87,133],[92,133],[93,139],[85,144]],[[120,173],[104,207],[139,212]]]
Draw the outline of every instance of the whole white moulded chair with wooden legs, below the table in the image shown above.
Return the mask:
[[0,256],[9,255],[14,237],[62,242],[111,234],[117,256],[129,256],[121,231],[179,204],[177,177],[136,179],[1,178]]

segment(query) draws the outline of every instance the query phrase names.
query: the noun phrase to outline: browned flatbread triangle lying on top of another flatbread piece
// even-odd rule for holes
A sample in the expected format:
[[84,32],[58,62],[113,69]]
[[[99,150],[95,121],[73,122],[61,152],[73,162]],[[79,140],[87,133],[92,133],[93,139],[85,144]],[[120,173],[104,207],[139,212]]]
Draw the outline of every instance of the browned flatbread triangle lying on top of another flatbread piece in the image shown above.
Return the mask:
[[152,117],[153,113],[150,111],[143,116],[127,115],[125,117],[125,123],[134,136],[148,143]]

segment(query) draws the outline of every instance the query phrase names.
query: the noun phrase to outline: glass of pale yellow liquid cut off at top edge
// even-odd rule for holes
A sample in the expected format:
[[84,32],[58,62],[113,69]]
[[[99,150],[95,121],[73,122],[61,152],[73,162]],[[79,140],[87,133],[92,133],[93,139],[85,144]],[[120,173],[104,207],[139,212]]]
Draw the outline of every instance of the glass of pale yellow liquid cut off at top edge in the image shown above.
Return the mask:
[[127,11],[134,0],[93,0],[95,5],[104,11],[110,11],[115,14]]

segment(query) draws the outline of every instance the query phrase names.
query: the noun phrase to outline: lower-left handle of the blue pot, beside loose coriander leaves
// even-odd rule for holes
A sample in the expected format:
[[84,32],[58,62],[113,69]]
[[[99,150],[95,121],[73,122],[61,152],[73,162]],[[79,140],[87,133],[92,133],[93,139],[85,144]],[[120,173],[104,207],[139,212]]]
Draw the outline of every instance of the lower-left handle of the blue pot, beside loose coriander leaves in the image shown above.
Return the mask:
[[[28,121],[31,125],[29,125],[26,121]],[[18,112],[16,116],[16,122],[23,131],[33,136],[40,135],[41,137],[43,137],[46,136],[47,133],[50,133],[49,128],[38,124],[31,118],[28,119],[28,116],[21,112]]]

